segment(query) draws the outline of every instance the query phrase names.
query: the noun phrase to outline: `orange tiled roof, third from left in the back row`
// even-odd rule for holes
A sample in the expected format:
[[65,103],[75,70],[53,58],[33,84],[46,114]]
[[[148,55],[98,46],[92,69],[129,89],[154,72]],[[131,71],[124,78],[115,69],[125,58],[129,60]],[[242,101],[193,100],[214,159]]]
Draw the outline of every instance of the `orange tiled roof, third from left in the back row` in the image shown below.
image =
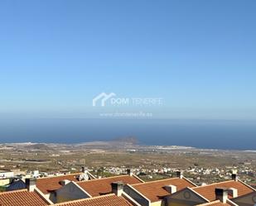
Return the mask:
[[186,179],[181,178],[171,178],[167,180],[157,180],[152,182],[146,182],[141,184],[133,184],[133,188],[138,190],[143,194],[147,199],[150,199],[152,202],[157,202],[162,199],[164,196],[167,196],[168,193],[164,186],[175,185],[177,191],[184,189],[186,187],[195,187],[194,184],[187,181]]

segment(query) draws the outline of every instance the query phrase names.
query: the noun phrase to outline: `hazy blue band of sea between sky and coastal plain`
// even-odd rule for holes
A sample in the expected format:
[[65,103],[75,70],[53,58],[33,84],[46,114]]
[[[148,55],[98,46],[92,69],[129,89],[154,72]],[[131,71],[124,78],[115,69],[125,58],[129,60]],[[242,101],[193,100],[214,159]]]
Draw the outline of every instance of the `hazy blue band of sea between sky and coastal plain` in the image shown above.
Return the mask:
[[143,145],[256,150],[256,121],[5,119],[0,141],[78,143],[137,137]]

